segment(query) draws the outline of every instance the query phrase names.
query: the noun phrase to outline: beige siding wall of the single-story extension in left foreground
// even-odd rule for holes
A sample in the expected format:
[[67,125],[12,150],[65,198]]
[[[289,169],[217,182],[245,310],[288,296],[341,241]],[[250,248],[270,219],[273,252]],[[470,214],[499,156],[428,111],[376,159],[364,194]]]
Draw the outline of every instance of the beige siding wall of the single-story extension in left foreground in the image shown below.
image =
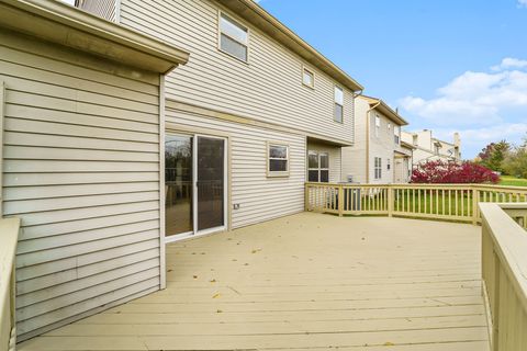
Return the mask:
[[5,31],[0,43],[25,339],[159,288],[159,77]]

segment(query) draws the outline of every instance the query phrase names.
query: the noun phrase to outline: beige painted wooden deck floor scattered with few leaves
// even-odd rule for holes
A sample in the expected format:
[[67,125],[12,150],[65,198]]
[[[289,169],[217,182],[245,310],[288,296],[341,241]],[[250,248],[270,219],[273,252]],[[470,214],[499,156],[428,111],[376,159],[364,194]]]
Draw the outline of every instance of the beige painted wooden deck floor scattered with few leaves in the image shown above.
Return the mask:
[[303,213],[175,244],[167,290],[19,350],[486,351],[480,231]]

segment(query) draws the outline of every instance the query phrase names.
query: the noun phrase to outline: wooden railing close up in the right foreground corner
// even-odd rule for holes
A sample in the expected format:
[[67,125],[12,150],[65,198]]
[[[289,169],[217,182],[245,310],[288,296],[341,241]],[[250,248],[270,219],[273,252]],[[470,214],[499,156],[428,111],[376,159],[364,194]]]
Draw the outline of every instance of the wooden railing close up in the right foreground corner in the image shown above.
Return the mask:
[[527,350],[527,235],[515,216],[527,216],[527,203],[484,203],[480,204],[480,211],[483,292],[492,350],[524,351]]

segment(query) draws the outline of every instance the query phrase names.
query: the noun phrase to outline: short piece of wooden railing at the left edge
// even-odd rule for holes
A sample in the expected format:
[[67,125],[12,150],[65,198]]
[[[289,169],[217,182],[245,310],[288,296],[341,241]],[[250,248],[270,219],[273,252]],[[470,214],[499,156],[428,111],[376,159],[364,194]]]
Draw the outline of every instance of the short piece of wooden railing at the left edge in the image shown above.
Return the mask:
[[14,257],[20,219],[0,219],[0,351],[14,350]]

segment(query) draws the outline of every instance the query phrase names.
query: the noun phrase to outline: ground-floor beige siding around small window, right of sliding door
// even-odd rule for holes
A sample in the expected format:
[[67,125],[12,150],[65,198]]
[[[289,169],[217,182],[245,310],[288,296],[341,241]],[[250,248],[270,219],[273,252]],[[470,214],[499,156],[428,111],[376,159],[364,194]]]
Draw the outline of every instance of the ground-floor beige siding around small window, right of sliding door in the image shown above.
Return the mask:
[[[304,206],[305,137],[167,109],[167,133],[198,131],[228,136],[232,227],[298,213]],[[180,129],[178,129],[178,126]],[[267,177],[267,143],[289,145],[289,177]]]

